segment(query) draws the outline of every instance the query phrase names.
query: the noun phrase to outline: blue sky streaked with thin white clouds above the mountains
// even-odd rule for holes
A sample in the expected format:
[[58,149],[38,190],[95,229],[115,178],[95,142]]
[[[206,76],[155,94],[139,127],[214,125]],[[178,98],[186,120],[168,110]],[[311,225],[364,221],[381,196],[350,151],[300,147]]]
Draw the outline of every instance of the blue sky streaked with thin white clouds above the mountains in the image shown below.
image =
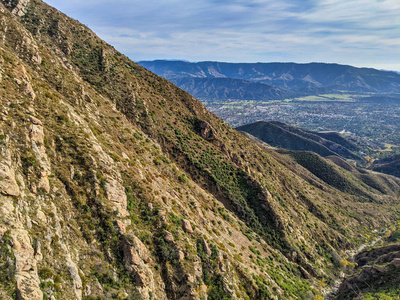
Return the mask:
[[400,0],[45,0],[134,61],[335,62],[400,71]]

